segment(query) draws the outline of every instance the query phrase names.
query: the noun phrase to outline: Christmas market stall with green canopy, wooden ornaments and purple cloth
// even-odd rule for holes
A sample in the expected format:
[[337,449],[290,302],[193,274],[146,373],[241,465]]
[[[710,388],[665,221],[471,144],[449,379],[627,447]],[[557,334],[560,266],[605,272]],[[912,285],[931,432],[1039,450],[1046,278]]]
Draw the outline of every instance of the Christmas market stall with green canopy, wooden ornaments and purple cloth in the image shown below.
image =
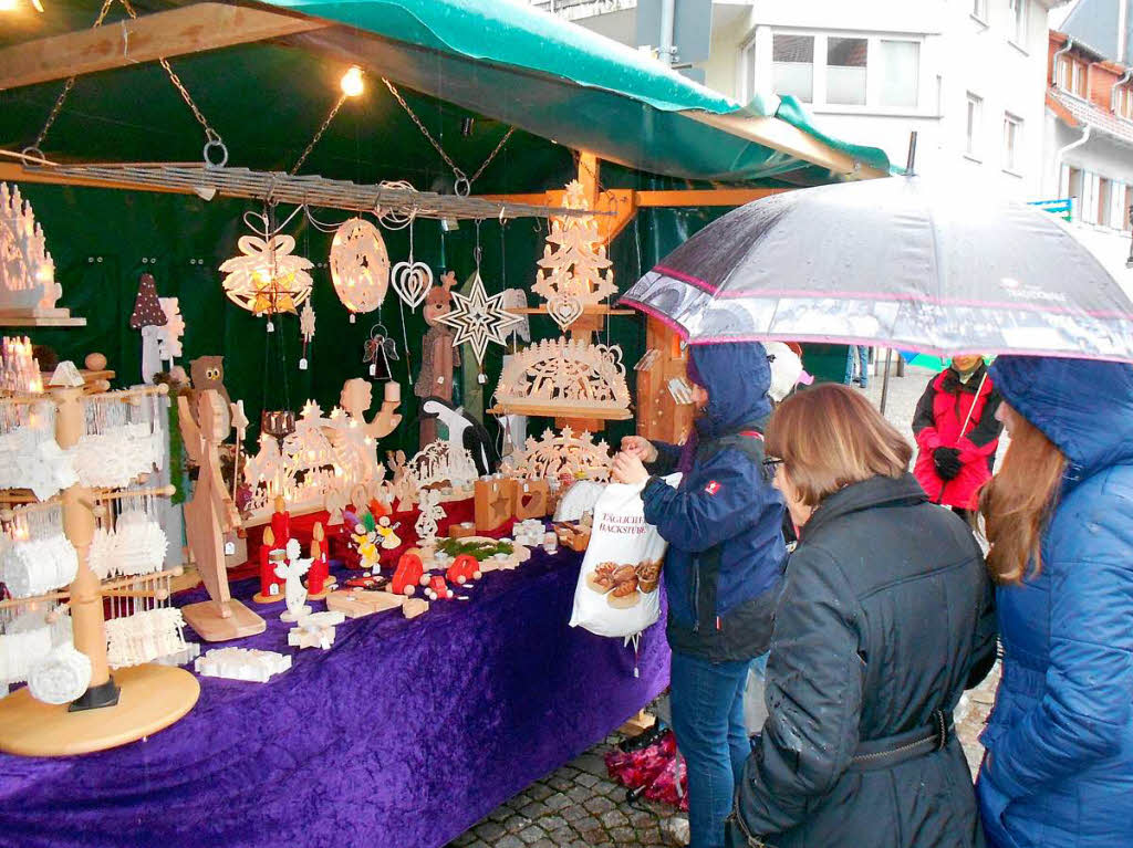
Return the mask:
[[526,7],[117,2],[0,38],[0,832],[443,845],[666,684],[566,624],[691,417],[613,299],[887,163]]

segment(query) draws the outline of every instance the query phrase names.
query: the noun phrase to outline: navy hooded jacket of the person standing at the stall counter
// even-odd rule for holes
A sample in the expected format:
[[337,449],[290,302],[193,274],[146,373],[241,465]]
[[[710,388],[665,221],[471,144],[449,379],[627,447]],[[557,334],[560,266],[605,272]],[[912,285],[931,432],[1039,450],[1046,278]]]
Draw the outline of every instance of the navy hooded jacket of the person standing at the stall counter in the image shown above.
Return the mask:
[[[782,582],[783,502],[763,465],[770,414],[770,367],[758,343],[693,345],[690,372],[708,391],[696,421],[691,469],[678,488],[650,480],[645,519],[668,542],[668,642],[710,660],[767,650]],[[681,448],[658,443],[653,473],[667,473]]]

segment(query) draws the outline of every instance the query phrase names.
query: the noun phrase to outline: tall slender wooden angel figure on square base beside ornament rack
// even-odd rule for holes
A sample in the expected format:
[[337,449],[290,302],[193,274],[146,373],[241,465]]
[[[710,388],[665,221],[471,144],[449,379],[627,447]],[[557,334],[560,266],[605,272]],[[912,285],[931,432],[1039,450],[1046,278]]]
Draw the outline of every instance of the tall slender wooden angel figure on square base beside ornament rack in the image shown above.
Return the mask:
[[185,504],[185,536],[211,600],[181,609],[186,623],[206,642],[224,642],[263,633],[264,619],[232,600],[224,567],[224,533],[240,526],[240,514],[220,473],[220,443],[231,429],[228,403],[214,391],[197,396],[194,422],[189,399],[177,399],[185,449],[199,466],[193,499]]

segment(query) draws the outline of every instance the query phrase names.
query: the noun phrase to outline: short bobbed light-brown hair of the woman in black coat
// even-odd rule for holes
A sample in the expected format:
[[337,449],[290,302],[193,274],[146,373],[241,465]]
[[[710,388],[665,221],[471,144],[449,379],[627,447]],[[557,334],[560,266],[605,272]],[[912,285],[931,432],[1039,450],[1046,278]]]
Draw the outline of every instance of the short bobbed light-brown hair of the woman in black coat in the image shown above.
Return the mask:
[[862,395],[833,383],[783,401],[766,439],[807,506],[871,477],[898,478],[912,457],[909,443]]

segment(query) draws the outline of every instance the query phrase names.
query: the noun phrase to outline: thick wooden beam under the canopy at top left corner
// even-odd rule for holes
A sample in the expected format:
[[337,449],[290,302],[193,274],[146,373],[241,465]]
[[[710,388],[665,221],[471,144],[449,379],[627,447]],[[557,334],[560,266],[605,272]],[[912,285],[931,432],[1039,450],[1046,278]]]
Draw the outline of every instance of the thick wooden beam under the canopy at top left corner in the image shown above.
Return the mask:
[[322,20],[246,6],[195,3],[3,48],[0,91],[327,26]]

